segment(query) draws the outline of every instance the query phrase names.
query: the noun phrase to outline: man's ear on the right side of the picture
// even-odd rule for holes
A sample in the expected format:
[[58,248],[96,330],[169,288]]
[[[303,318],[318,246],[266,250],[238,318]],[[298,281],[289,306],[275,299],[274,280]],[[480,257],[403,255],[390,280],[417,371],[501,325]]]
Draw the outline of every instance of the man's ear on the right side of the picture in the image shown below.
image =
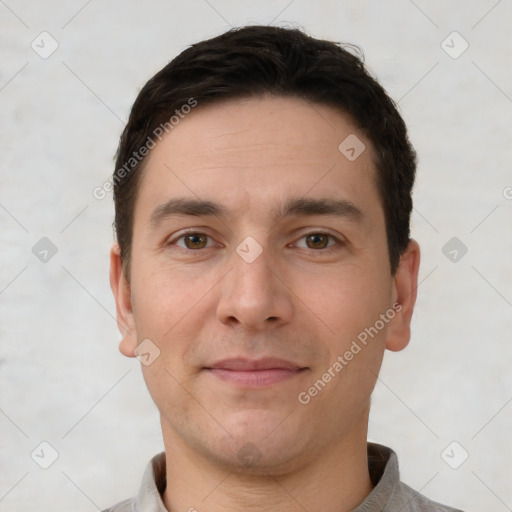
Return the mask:
[[411,318],[416,303],[419,267],[420,247],[415,240],[409,240],[393,278],[393,304],[398,305],[393,308],[396,314],[388,326],[388,350],[403,350],[411,338]]

